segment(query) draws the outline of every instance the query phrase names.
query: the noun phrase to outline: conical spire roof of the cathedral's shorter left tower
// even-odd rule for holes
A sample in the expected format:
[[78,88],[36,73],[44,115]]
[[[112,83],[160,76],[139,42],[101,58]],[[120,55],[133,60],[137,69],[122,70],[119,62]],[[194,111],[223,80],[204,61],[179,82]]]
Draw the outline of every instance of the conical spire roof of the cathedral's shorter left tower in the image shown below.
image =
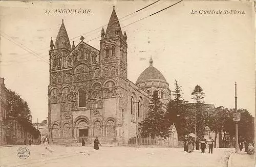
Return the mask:
[[55,41],[54,49],[59,49],[59,48],[63,48],[63,47],[71,50],[69,36],[68,36],[68,33],[66,31],[66,28],[65,28],[65,25],[64,25],[63,19],[62,19],[62,24],[60,26],[59,33],[57,35],[57,39]]

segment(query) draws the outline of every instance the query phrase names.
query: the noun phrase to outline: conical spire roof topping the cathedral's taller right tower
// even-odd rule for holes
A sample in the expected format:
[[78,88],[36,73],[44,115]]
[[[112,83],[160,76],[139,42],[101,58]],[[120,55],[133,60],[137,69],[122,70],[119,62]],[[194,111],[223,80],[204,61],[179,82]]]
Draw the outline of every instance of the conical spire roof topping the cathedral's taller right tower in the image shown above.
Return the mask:
[[116,31],[119,31],[119,36],[122,38],[123,34],[122,34],[122,30],[121,30],[121,26],[119,24],[116,12],[115,12],[115,6],[113,7],[113,12],[111,14],[110,17],[110,21],[108,24],[108,27],[106,28],[106,34],[105,34],[105,38],[113,38],[116,36]]

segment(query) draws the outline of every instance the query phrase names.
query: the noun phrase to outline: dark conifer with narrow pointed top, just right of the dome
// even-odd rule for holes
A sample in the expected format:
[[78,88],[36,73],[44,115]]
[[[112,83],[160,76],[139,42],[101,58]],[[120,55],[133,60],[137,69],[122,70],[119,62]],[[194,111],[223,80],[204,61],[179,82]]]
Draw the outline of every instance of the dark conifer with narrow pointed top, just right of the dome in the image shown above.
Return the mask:
[[179,140],[183,140],[186,134],[186,119],[185,119],[185,112],[186,112],[186,105],[185,100],[182,99],[182,90],[181,87],[178,85],[177,80],[175,80],[175,91],[172,92],[174,96],[173,100],[170,100],[167,104],[166,110],[166,121],[168,126],[175,123]]

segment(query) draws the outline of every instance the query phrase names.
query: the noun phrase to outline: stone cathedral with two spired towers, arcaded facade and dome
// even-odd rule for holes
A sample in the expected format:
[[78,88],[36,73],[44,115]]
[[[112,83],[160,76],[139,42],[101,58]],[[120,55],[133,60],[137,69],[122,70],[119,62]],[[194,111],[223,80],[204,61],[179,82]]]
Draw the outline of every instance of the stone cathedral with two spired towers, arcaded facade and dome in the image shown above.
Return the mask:
[[101,143],[127,144],[139,135],[150,97],[157,91],[166,107],[169,85],[149,66],[134,84],[127,79],[127,35],[113,8],[108,27],[102,28],[99,49],[84,38],[71,46],[62,20],[55,44],[50,42],[48,121],[50,142],[81,143],[96,136]]

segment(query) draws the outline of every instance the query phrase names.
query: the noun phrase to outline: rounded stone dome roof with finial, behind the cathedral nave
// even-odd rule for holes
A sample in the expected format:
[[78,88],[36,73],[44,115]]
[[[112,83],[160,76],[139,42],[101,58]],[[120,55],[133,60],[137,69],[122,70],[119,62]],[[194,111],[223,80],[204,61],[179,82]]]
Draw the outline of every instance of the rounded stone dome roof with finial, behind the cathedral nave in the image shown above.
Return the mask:
[[145,81],[161,81],[161,82],[166,82],[166,79],[164,78],[163,74],[153,67],[153,60],[152,58],[150,59],[150,67],[147,67],[138,77],[136,84],[139,84],[140,82],[145,82]]

